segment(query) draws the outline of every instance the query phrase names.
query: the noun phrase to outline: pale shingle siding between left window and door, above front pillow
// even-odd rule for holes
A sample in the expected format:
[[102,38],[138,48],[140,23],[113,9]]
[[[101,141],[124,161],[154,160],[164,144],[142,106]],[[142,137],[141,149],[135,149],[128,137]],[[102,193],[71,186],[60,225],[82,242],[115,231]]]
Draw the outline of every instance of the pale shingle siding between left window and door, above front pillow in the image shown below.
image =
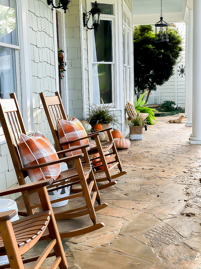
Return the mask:
[[[29,30],[33,87],[33,123],[53,142],[39,93],[51,95],[56,91],[53,12],[47,1],[29,0]],[[46,126],[46,128],[45,128]]]

